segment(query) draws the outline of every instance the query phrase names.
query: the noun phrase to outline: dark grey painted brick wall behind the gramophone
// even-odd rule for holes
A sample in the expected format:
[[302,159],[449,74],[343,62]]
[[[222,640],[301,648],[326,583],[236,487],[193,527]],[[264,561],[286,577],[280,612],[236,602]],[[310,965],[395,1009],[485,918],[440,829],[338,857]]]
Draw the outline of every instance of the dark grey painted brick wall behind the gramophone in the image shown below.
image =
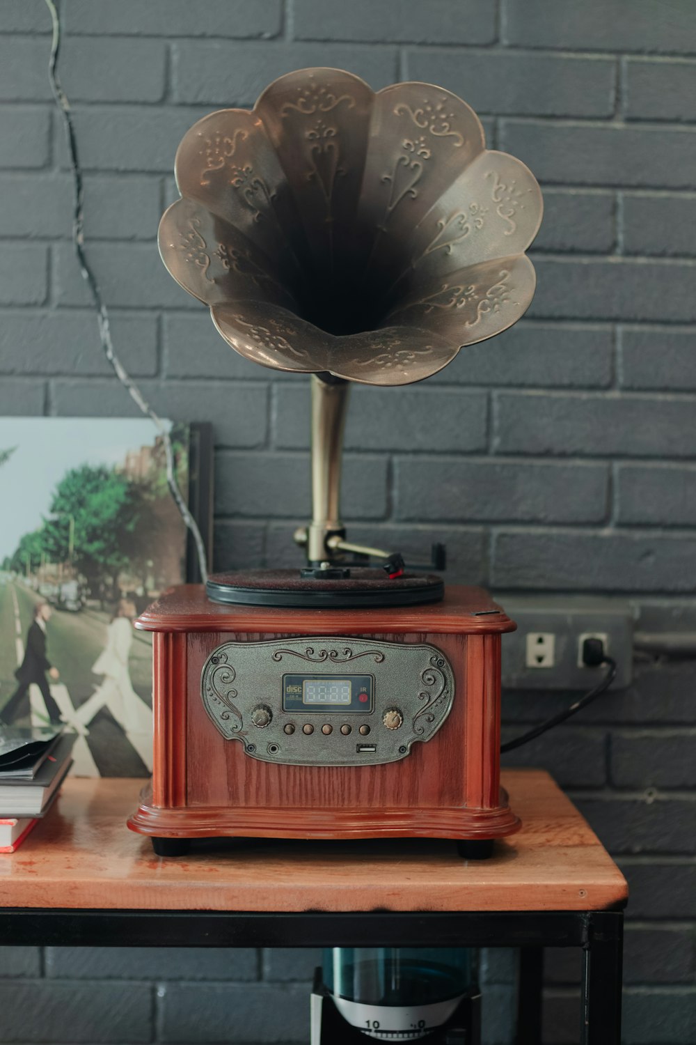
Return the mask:
[[[356,388],[345,516],[500,590],[629,595],[696,627],[696,8],[689,0],[63,0],[86,238],[119,354],[163,413],[215,425],[216,564],[291,564],[308,509],[307,382],[232,353],[162,266],[184,132],[303,65],[462,94],[545,191],[528,318],[413,389]],[[0,413],[129,415],[69,242],[72,187],[43,0],[0,0]],[[696,670],[633,684],[507,757],[549,768],[631,887],[624,1040],[696,1040]],[[505,735],[557,694],[505,696]],[[513,956],[483,956],[510,1040]],[[316,952],[0,950],[0,1041],[306,1041]],[[545,1041],[576,1040],[576,956]],[[70,1019],[68,1020],[68,1014]],[[234,1014],[234,1022],[231,1021]]]

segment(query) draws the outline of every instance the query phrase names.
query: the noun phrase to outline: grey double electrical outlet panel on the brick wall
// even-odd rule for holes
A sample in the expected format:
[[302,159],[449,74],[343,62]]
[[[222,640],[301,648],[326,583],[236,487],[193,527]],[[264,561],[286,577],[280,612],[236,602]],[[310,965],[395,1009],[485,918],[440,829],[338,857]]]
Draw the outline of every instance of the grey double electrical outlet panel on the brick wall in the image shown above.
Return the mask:
[[633,617],[620,599],[496,593],[518,630],[503,635],[503,689],[591,690],[606,671],[582,663],[585,638],[601,638],[617,663],[613,689],[629,684]]

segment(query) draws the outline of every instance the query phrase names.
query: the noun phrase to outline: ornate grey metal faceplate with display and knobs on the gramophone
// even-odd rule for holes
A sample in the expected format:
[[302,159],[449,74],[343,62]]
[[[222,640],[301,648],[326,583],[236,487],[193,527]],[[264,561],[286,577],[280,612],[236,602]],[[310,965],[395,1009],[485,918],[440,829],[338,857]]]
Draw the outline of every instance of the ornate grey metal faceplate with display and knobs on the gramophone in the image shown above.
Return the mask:
[[254,759],[376,766],[434,737],[452,707],[454,672],[435,646],[335,636],[231,642],[206,660],[200,695],[225,740],[240,740]]

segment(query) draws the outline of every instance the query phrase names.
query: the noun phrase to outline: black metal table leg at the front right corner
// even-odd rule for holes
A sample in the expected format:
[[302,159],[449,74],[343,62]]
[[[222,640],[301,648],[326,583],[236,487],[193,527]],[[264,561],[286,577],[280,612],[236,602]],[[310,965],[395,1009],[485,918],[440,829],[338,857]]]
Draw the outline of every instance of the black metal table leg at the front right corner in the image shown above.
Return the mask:
[[590,914],[582,962],[582,1045],[620,1045],[623,913]]

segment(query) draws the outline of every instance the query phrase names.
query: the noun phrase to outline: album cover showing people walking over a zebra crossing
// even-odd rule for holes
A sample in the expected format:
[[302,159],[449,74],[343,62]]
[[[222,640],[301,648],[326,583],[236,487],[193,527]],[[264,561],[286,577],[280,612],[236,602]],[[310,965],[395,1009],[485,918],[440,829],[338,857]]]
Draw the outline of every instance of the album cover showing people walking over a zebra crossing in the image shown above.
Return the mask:
[[[189,491],[189,425],[165,422]],[[73,773],[151,769],[151,638],[134,620],[187,579],[152,422],[0,418],[0,723],[65,722]]]

